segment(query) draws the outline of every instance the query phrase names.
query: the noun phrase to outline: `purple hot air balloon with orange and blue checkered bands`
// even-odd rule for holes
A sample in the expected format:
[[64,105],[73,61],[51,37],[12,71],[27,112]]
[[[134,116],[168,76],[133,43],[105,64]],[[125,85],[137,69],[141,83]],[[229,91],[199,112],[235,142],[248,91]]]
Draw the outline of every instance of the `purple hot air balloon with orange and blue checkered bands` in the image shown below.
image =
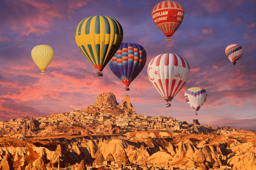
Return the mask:
[[146,64],[146,50],[139,44],[122,43],[108,65],[110,70],[130,90],[130,83],[137,77]]

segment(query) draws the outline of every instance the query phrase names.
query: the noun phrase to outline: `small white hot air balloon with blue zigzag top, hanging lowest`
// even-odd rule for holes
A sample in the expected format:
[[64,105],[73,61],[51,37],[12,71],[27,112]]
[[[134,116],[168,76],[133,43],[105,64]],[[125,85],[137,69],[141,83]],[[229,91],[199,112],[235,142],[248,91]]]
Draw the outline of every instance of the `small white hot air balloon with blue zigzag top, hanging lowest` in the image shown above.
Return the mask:
[[206,101],[207,92],[201,87],[191,87],[186,90],[184,97],[189,106],[194,109],[197,115],[196,111],[199,111]]

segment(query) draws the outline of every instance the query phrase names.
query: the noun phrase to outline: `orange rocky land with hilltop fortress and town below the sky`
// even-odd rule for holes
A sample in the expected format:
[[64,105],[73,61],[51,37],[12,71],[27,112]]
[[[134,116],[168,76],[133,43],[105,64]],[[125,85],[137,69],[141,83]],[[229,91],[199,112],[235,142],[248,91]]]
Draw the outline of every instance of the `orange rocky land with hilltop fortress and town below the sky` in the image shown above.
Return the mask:
[[0,169],[256,169],[255,132],[136,114],[112,92],[81,111],[0,122]]

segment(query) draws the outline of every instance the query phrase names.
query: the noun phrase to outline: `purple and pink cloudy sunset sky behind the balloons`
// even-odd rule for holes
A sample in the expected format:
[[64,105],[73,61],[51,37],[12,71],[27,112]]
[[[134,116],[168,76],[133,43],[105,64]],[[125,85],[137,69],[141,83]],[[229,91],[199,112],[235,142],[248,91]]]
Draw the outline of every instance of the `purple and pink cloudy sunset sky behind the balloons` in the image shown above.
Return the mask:
[[[176,0],[184,19],[173,41],[156,27],[151,12],[157,0],[66,0],[0,2],[0,121],[11,118],[47,116],[82,110],[104,92],[113,92],[119,104],[129,95],[137,114],[172,116],[179,121],[210,126],[235,126],[256,130],[256,1]],[[123,42],[137,43],[147,53],[138,77],[124,91],[124,84],[106,66],[96,77],[93,65],[76,45],[80,21],[93,15],[116,19],[123,28]],[[40,71],[31,50],[49,45],[55,56]],[[236,67],[225,49],[243,47]],[[147,75],[150,60],[164,53],[178,54],[189,63],[190,78],[174,97],[171,107],[152,86]],[[202,87],[207,100],[196,116],[184,92]]]

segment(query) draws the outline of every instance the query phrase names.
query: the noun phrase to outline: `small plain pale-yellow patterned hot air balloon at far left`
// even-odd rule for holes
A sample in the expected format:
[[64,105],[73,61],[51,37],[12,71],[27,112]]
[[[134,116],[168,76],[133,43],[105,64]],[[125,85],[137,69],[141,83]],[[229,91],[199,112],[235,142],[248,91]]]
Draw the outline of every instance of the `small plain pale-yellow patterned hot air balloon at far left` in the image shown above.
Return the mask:
[[44,74],[44,70],[53,60],[54,50],[48,45],[37,45],[31,50],[31,56],[41,70],[41,74]]

